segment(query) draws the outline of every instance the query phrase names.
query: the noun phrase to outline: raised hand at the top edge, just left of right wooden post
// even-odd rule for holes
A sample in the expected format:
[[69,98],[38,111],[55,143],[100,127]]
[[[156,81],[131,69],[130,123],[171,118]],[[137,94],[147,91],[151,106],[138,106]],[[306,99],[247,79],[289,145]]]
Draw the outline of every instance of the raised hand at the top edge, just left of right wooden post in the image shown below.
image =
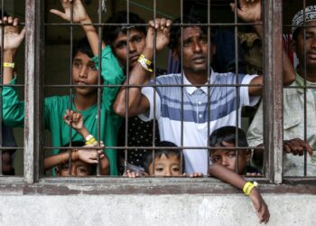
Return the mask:
[[[261,0],[239,0],[240,8],[237,8],[237,15],[247,23],[254,23],[261,20]],[[230,4],[231,11],[235,11],[235,4]]]

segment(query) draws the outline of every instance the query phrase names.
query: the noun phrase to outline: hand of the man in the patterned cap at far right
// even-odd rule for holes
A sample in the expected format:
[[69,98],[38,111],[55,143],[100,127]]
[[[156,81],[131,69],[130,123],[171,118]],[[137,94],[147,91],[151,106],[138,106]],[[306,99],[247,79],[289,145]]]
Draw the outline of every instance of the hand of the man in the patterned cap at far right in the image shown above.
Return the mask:
[[283,151],[285,153],[292,153],[293,155],[304,155],[304,151],[312,155],[311,146],[300,138],[295,138],[291,140],[284,140]]

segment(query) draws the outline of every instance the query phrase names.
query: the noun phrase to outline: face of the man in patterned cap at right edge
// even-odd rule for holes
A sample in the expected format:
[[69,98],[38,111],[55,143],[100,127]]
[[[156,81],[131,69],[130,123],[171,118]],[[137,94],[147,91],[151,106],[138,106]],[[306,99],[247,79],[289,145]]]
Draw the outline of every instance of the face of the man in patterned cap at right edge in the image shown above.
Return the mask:
[[[304,59],[306,59],[306,66],[308,68],[316,68],[316,21],[308,22],[306,25],[312,27],[305,28],[305,41],[304,32],[301,28],[297,35],[297,40],[293,41],[293,48],[302,67],[304,67]],[[304,57],[304,46],[306,58]]]

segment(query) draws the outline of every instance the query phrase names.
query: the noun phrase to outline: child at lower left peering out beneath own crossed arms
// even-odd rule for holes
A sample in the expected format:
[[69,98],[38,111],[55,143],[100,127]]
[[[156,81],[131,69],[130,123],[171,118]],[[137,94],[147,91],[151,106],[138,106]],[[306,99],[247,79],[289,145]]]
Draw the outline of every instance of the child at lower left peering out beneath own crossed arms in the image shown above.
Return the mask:
[[[102,149],[104,144],[90,135],[87,127],[83,123],[83,117],[79,112],[67,110],[63,117],[67,125],[71,125],[81,137],[89,137],[88,141],[75,141],[72,146],[78,146],[75,149],[60,150],[58,155],[51,155],[44,160],[45,170],[56,166],[57,174],[60,176],[85,176],[96,174],[97,165],[99,166],[99,174],[109,174],[109,163],[107,156],[104,155]],[[67,144],[66,146],[69,146]],[[82,148],[80,148],[82,146]],[[93,149],[85,149],[85,147],[95,147]],[[102,148],[103,147],[103,148]],[[70,163],[71,158],[71,163]],[[99,159],[99,163],[98,163]],[[71,166],[70,166],[71,165]]]

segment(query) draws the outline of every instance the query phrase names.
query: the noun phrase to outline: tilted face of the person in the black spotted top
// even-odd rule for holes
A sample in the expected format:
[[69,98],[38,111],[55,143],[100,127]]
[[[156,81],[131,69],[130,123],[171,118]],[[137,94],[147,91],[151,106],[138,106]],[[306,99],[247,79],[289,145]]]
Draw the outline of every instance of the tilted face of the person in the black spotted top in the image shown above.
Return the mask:
[[[135,29],[129,31],[129,68],[133,68],[137,59],[144,51],[145,34]],[[126,67],[127,61],[127,34],[118,33],[113,43],[114,52],[121,65]]]

